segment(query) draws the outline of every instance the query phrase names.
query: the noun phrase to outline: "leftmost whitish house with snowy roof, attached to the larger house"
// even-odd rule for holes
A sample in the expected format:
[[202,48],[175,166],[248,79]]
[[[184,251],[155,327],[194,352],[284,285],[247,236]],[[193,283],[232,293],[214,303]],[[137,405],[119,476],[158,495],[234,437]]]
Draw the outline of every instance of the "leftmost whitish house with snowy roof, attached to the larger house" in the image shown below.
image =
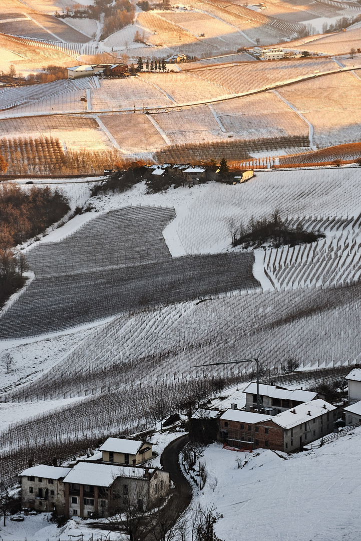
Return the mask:
[[38,464],[21,472],[22,507],[65,514],[64,477],[70,468]]

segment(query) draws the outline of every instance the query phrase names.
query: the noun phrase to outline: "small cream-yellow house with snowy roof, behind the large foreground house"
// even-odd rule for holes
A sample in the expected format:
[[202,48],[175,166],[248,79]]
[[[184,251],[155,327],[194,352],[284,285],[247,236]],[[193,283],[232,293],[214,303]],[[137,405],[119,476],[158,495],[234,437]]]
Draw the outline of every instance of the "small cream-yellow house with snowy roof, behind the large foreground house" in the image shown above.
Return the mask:
[[99,447],[103,462],[137,466],[152,458],[152,444],[122,438],[108,438]]

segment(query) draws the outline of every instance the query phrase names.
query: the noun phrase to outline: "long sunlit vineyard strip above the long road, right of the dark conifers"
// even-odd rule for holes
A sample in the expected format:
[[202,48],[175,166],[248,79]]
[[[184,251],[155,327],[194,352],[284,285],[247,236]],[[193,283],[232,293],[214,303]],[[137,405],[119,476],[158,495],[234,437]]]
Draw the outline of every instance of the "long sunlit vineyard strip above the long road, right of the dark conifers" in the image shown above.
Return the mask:
[[[272,65],[272,69],[270,69]],[[338,68],[332,60],[295,60],[245,63],[231,67],[200,69],[192,72],[195,77],[228,88],[232,93],[243,93],[266,88],[277,83],[286,83],[298,77],[313,75]]]

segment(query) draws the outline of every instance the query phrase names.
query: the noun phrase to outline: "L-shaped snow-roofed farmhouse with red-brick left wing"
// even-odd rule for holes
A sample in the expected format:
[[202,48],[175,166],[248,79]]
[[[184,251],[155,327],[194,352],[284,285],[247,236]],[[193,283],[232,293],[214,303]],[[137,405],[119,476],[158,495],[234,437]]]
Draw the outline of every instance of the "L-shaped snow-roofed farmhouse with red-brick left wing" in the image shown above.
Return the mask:
[[219,438],[232,447],[299,451],[333,431],[337,408],[316,399],[275,416],[228,410],[219,419]]

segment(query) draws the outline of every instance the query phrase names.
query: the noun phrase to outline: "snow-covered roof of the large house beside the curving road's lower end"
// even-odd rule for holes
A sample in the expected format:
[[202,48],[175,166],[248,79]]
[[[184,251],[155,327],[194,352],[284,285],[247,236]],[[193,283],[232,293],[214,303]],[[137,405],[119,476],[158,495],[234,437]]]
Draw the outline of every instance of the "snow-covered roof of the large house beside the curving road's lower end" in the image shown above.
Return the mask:
[[[149,470],[153,471],[153,470]],[[78,485],[111,486],[117,477],[138,478],[144,477],[144,468],[129,466],[116,466],[113,464],[95,464],[92,462],[78,462],[64,479],[64,483]]]

